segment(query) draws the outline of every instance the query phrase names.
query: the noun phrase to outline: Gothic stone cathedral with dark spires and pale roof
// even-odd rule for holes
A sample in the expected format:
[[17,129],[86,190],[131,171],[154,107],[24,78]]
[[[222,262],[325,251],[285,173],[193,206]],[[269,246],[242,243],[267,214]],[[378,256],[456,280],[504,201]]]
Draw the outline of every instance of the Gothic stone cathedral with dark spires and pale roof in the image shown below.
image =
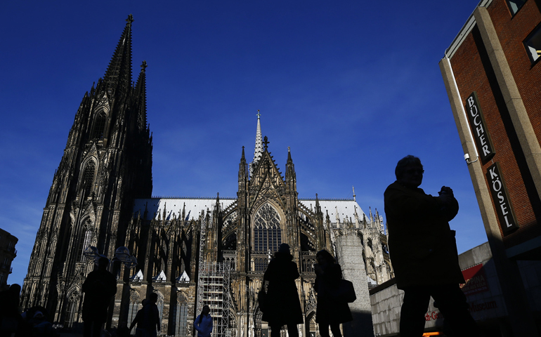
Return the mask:
[[[55,322],[78,329],[82,284],[94,269],[89,247],[112,259],[109,270],[117,277],[107,328],[129,325],[141,300],[157,293],[167,336],[194,336],[202,305],[211,308],[216,336],[268,336],[256,298],[282,243],[291,246],[301,275],[301,336],[319,335],[313,264],[320,249],[337,257],[358,298],[393,277],[379,213],[365,214],[354,191],[352,199],[299,199],[294,154],[288,149],[282,174],[259,114],[253,159],[239,149],[236,197],[152,197],[147,65],[142,62],[133,83],[132,23],[129,15],[105,76],[75,114],[37,232],[22,308],[44,306]],[[137,263],[113,258],[119,247]]]

